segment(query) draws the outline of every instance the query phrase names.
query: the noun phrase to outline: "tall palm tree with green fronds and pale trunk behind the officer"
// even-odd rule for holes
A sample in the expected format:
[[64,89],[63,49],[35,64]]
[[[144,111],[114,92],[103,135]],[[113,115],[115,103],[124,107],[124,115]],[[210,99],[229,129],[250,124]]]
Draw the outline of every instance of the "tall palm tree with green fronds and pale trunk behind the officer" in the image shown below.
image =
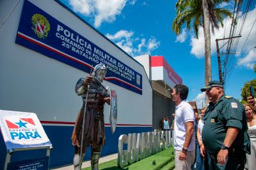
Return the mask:
[[[182,25],[186,24],[186,29],[193,29],[198,38],[198,29],[203,27],[205,39],[205,85],[211,81],[211,34],[214,34],[214,28],[223,27],[223,19],[232,17],[230,11],[217,6],[229,0],[178,0],[175,4],[177,16],[173,20],[172,30],[180,34]],[[206,99],[206,98],[205,98]]]

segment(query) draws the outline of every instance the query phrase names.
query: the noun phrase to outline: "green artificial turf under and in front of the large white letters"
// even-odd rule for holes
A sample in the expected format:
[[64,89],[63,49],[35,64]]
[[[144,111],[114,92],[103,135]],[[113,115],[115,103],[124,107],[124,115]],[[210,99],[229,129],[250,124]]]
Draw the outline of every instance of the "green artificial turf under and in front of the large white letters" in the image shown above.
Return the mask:
[[[156,161],[156,165],[152,165],[153,160]],[[108,162],[104,162],[99,164],[99,169],[104,170],[115,170],[115,169],[173,169],[174,168],[174,154],[173,148],[168,148],[163,150],[162,152],[156,153],[155,155],[151,155],[145,159],[142,159],[138,162],[135,162],[131,165],[127,165],[123,168],[119,168],[117,166],[117,159],[110,160]],[[83,170],[90,170],[91,167],[86,167]]]

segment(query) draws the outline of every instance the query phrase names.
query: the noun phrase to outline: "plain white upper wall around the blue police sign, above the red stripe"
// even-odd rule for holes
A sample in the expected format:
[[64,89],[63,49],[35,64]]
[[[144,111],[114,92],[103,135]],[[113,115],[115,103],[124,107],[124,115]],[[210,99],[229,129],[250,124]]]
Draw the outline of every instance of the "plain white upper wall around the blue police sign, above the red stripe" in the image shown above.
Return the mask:
[[[15,3],[0,1],[0,25]],[[82,101],[74,86],[88,73],[15,43],[23,3],[20,0],[0,30],[0,109],[34,112],[41,121],[75,122]],[[118,94],[118,124],[152,124],[152,88],[143,66],[55,1],[31,3],[140,73],[143,95],[108,81],[104,85]],[[107,124],[108,110],[106,106]]]

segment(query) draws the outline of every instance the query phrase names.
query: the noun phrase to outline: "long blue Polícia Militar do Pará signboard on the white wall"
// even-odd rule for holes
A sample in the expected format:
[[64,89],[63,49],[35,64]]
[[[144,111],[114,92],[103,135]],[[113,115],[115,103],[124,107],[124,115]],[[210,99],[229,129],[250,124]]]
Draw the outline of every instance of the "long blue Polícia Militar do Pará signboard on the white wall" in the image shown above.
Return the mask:
[[15,42],[87,73],[103,63],[107,81],[142,94],[140,73],[29,1],[24,1]]

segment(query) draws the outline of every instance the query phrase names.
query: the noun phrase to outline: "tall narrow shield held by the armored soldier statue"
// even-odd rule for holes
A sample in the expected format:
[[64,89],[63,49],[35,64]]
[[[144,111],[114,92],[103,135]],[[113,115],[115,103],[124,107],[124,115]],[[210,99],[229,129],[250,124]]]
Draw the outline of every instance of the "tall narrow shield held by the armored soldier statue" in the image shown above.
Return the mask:
[[117,94],[115,90],[110,90],[110,114],[109,114],[109,122],[112,133],[116,130],[117,124]]

